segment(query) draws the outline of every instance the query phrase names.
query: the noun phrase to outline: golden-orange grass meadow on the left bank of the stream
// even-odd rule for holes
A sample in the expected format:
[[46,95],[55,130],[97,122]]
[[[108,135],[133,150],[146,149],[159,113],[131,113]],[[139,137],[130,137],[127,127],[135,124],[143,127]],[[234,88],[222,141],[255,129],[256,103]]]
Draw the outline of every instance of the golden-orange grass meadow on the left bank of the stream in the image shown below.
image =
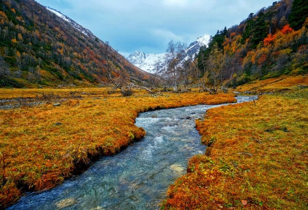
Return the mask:
[[[0,91],[2,99],[23,94],[23,90]],[[23,96],[36,96],[40,91],[25,90]],[[27,190],[54,187],[84,170],[99,155],[113,155],[140,140],[145,131],[134,124],[140,112],[235,102],[233,94],[149,96],[136,92],[123,97],[120,93],[105,94],[100,88],[48,91],[60,96],[86,94],[79,100],[65,100],[60,106],[42,103],[0,110],[0,209],[16,202]]]

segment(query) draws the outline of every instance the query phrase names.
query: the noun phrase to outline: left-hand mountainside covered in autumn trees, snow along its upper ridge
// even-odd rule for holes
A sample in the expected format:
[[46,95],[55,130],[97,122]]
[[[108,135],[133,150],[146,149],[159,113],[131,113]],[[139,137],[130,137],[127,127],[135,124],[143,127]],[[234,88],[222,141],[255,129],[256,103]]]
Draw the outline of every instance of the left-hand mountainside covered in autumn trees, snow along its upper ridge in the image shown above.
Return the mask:
[[101,83],[117,77],[138,83],[149,77],[80,27],[33,0],[0,1],[0,87]]

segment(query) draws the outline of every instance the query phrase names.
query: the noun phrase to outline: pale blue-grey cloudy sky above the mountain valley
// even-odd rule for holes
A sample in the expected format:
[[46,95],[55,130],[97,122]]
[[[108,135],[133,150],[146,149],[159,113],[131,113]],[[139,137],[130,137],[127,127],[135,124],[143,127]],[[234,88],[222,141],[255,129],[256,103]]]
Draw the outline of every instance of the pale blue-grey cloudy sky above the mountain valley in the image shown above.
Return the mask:
[[36,0],[109,41],[119,53],[164,53],[170,40],[188,45],[199,36],[239,24],[274,0]]

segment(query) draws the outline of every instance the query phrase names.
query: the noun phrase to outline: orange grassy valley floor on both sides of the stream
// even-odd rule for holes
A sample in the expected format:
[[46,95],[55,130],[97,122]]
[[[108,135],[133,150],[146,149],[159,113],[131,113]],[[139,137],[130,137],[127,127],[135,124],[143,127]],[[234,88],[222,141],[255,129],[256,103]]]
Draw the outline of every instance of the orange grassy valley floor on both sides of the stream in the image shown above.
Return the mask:
[[[170,186],[162,209],[307,209],[308,82],[300,77],[283,88],[268,81],[271,87],[262,92],[280,93],[211,109],[197,120],[209,148],[190,159],[188,174]],[[0,110],[0,209],[27,190],[54,187],[99,155],[140,140],[144,129],[134,124],[140,112],[235,101],[234,94],[105,92],[1,89],[1,99],[36,97],[39,103],[31,107],[21,100]]]

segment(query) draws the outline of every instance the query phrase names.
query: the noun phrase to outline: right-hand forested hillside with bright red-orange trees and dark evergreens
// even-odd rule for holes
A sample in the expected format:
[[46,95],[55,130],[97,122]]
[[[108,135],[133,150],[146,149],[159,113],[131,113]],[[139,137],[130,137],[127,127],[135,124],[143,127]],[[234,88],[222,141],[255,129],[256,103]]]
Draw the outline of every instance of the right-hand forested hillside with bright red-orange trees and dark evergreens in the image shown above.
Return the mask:
[[255,79],[308,73],[308,3],[282,0],[217,31],[195,63],[203,86],[238,86]]

